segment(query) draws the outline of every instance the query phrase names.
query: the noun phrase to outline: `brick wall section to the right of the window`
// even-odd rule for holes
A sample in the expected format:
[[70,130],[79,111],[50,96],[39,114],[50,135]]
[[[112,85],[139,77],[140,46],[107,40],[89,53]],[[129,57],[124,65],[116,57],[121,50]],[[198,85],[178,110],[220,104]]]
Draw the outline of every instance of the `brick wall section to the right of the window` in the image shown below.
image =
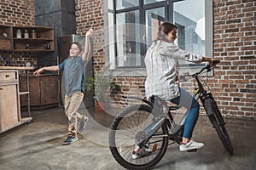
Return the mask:
[[256,2],[214,3],[214,57],[221,59],[212,82],[227,116],[256,117]]

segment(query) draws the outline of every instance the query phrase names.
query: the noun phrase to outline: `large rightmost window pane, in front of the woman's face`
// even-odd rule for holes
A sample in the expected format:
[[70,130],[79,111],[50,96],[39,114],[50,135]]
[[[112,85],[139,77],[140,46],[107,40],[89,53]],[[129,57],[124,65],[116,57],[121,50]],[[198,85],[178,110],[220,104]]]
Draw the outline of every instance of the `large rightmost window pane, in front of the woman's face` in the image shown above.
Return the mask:
[[204,0],[184,0],[174,3],[174,22],[177,26],[178,46],[193,54],[205,55]]

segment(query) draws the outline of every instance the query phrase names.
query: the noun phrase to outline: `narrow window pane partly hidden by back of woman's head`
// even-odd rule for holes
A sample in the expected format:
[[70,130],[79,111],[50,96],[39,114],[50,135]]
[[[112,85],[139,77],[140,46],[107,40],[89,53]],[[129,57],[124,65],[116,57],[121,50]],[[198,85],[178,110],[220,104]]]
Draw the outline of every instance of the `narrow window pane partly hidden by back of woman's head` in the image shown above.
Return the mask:
[[152,8],[146,11],[147,26],[147,48],[154,42],[157,37],[159,26],[166,21],[165,7]]

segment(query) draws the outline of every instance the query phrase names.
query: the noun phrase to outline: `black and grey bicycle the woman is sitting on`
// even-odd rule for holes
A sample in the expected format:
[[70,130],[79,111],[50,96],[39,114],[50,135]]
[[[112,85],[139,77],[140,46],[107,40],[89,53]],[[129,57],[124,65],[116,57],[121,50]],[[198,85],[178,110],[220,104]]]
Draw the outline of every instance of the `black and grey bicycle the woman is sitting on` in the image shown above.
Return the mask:
[[[216,62],[216,64],[219,61]],[[218,133],[224,148],[233,155],[233,146],[225,128],[224,118],[218,105],[212,97],[207,82],[200,78],[205,71],[212,71],[215,67],[206,65],[201,71],[192,75],[195,79],[195,99],[201,99],[212,126]],[[206,90],[204,87],[208,88]],[[122,111],[112,123],[108,135],[109,148],[114,159],[128,169],[149,169],[154,167],[165,155],[169,140],[171,144],[180,144],[183,138],[183,124],[187,113],[182,121],[177,124],[172,116],[172,111],[178,110],[177,105],[169,106],[166,101],[158,96],[151,99],[142,99],[136,96],[123,96],[126,99],[137,99],[143,102],[140,105],[131,105]],[[140,147],[139,158],[132,159],[131,153],[135,144]],[[150,150],[150,151],[145,151]],[[196,150],[188,150],[189,152]]]

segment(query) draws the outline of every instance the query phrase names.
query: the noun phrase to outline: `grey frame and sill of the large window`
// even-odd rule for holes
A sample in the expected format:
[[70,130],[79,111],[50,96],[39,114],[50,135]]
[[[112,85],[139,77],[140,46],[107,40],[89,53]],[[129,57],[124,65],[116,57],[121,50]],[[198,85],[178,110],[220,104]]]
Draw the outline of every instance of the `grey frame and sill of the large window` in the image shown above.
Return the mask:
[[[113,1],[113,10],[108,9],[108,1]],[[157,3],[149,3],[149,4],[143,4],[143,0],[139,0],[139,6],[137,7],[131,7],[131,8],[122,8],[116,10],[116,4],[115,0],[104,0],[106,5],[104,6],[104,26],[108,27],[108,12],[113,13],[113,29],[115,29],[116,25],[116,14],[124,13],[124,12],[129,12],[133,10],[139,10],[140,14],[140,24],[145,24],[146,19],[146,10],[151,9],[151,8],[160,8],[160,7],[165,7],[164,5],[167,4],[166,8],[166,13],[167,13],[167,22],[173,22],[173,14],[174,14],[174,4],[179,1],[183,0],[166,0],[163,2],[157,2]],[[207,10],[206,10],[207,9]],[[205,24],[206,24],[206,40],[205,40],[205,54],[207,57],[213,57],[213,3],[212,1],[207,1],[205,0]],[[114,32],[116,32],[114,30]],[[108,38],[108,31],[105,31],[105,37]],[[124,66],[124,67],[116,67],[116,62],[117,62],[117,44],[116,44],[116,34],[113,35],[114,37],[114,65],[110,67],[110,72],[112,77],[147,77],[147,71],[145,67],[142,66]],[[108,42],[106,42],[106,46],[108,47]],[[143,47],[142,48],[142,53],[143,53]],[[144,49],[147,50],[147,49]],[[105,49],[105,61],[106,64],[109,64],[109,51],[108,48]],[[202,65],[199,65],[202,67]],[[188,70],[188,68],[184,67],[185,70]],[[132,70],[132,71],[131,71]],[[194,70],[193,68],[189,67],[189,70]],[[198,70],[198,68],[197,68]],[[211,76],[211,75],[210,75]]]

